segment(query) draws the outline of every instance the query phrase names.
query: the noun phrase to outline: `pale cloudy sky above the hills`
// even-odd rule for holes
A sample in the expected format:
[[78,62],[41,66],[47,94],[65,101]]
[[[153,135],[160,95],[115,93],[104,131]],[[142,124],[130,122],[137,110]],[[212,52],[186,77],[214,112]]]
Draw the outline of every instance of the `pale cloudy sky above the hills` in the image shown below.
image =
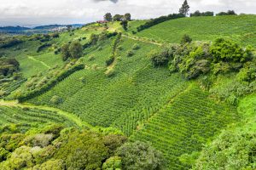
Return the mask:
[[[236,10],[256,14],[256,0],[188,0],[190,12]],[[177,13],[183,0],[0,0],[0,26],[38,26],[102,20],[107,12],[149,19]]]

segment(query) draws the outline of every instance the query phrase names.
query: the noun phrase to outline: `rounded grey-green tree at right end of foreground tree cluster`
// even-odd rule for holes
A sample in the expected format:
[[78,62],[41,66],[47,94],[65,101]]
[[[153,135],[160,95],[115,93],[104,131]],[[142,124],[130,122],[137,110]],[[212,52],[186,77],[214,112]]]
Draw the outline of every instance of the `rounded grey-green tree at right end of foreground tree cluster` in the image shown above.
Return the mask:
[[[150,144],[136,141],[126,143],[117,150],[122,159],[122,169],[156,170],[164,169],[163,156]],[[147,161],[145,161],[147,160]]]

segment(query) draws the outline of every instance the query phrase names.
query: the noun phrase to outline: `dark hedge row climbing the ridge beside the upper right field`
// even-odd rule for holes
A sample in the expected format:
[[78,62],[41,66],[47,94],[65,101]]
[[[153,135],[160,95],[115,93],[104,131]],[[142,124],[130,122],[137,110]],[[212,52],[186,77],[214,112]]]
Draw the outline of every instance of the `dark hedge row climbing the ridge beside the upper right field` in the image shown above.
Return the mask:
[[157,24],[165,22],[166,20],[174,20],[174,19],[179,19],[179,18],[183,18],[183,17],[185,17],[185,15],[183,15],[183,14],[169,14],[167,16],[160,16],[159,18],[149,20],[142,26],[138,26],[137,31],[143,31],[147,28],[150,28],[151,26],[155,26]]

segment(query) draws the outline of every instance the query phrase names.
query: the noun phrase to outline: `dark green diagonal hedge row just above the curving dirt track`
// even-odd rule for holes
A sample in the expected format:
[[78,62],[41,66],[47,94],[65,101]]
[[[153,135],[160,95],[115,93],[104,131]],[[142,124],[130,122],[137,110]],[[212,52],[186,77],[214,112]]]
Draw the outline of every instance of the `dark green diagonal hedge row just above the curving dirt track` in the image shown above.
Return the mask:
[[84,69],[83,64],[74,65],[71,69],[61,72],[61,74],[58,77],[56,77],[55,79],[53,79],[50,82],[48,82],[47,84],[45,84],[42,88],[38,88],[38,89],[33,90],[32,92],[27,93],[27,94],[21,94],[20,96],[17,97],[17,99],[19,102],[24,102],[28,99],[32,99],[38,95],[44,94],[45,92],[49,91],[50,88],[55,87],[55,85],[58,82],[61,82],[66,77],[69,77],[70,75],[72,75],[74,72],[80,71],[83,69]]

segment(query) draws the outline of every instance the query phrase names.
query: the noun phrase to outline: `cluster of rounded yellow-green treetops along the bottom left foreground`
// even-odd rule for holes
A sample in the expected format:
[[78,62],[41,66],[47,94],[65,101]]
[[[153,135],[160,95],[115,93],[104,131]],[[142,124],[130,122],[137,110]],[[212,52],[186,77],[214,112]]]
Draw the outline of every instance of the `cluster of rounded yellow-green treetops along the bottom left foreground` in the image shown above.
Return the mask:
[[30,127],[26,131],[10,124],[1,127],[0,168],[161,169],[163,159],[159,151],[142,142],[125,144],[126,140],[119,134],[65,128],[60,124]]

